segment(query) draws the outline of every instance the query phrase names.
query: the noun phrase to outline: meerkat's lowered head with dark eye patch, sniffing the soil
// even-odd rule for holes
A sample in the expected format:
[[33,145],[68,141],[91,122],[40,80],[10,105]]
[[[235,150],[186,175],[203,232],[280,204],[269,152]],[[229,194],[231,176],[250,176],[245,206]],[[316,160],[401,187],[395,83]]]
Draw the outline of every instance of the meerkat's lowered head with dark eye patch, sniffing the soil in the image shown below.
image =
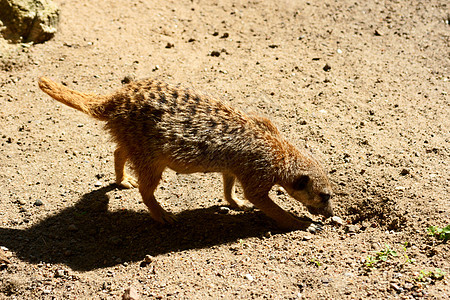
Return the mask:
[[313,215],[333,216],[333,191],[324,172],[311,172],[294,176],[283,187],[294,199],[302,202]]

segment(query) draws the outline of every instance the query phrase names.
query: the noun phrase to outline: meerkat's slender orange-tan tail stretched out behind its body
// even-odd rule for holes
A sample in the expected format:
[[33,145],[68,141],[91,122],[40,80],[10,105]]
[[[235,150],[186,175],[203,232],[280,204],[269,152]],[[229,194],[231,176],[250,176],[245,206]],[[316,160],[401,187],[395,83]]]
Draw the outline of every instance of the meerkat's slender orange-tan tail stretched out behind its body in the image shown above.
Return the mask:
[[107,101],[106,96],[77,92],[47,77],[39,78],[39,87],[53,99],[96,119],[105,120],[103,104]]

